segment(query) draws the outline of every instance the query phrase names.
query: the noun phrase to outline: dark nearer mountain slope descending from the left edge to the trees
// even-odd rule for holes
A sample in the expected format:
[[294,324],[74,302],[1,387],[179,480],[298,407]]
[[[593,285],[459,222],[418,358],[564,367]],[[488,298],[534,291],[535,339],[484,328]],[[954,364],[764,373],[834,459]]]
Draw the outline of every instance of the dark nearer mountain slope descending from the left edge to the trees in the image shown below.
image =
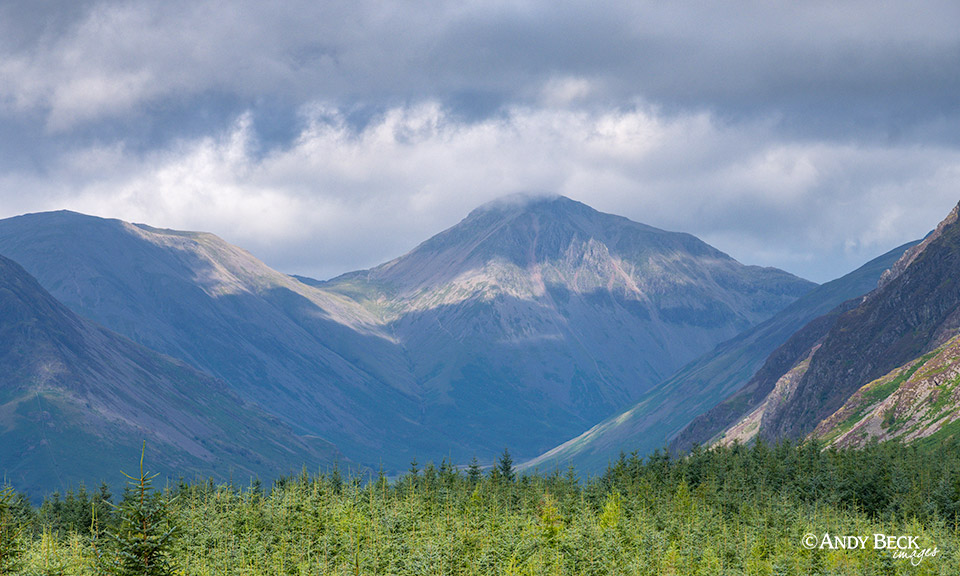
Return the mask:
[[0,257],[6,481],[36,495],[119,481],[144,440],[153,468],[171,477],[274,476],[336,457],[329,443],[295,435],[222,382],[79,318]]

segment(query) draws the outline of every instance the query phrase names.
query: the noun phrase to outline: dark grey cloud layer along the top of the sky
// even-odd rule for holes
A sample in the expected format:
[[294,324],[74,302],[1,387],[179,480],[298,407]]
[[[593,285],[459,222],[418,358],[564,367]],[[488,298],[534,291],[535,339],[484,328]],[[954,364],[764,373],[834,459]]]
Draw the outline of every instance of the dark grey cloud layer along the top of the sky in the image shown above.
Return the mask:
[[0,99],[43,110],[53,131],[210,94],[240,109],[282,95],[295,108],[436,100],[468,115],[642,98],[834,139],[955,142],[960,117],[948,0],[78,5],[44,25],[49,10],[7,9],[2,30],[18,40],[0,42]]

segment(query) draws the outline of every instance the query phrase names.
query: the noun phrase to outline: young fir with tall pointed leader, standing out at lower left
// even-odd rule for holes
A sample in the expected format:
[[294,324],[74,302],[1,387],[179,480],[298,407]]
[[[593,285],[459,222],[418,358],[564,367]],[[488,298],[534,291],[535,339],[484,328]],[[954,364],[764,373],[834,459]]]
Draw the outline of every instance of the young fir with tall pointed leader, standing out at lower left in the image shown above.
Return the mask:
[[168,576],[174,573],[170,548],[177,532],[167,502],[153,492],[157,476],[143,471],[130,476],[123,501],[116,510],[116,528],[107,530],[108,551],[100,557],[101,568],[111,576]]

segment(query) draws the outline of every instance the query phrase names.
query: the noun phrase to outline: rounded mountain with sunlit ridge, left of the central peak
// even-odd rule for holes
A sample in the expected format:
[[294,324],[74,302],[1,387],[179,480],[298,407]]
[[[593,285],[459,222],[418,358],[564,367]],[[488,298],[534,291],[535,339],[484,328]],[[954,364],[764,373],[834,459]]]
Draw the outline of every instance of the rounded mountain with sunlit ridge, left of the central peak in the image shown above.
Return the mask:
[[[77,314],[228,383],[352,459],[440,446],[406,362],[353,302],[205,233],[50,212],[0,221],[0,253]],[[388,434],[389,432],[389,434]],[[438,452],[441,453],[441,452]]]

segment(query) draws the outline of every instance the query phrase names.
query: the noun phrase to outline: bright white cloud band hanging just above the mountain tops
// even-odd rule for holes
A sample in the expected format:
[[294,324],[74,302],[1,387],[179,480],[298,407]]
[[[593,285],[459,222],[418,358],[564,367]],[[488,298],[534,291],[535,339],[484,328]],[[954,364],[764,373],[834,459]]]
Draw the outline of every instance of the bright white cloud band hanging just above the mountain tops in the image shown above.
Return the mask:
[[[791,140],[774,121],[642,102],[464,120],[425,101],[362,128],[348,110],[314,103],[301,118],[281,147],[262,146],[248,113],[162,150],[73,150],[43,174],[0,177],[0,209],[211,231],[323,278],[396,257],[483,202],[546,191],[825,281],[935,226],[960,176],[950,147]],[[14,192],[24,189],[34,193]]]

